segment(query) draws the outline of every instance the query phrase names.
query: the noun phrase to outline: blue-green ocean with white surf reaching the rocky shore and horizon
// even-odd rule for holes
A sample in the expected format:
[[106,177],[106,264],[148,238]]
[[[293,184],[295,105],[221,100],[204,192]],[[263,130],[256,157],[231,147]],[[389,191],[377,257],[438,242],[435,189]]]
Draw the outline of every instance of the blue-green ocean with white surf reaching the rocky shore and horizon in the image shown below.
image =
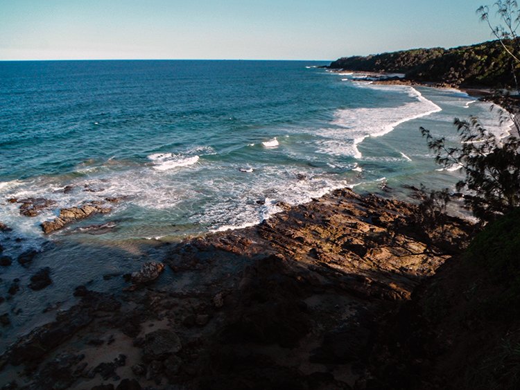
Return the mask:
[[[419,126],[453,143],[455,117],[508,130],[461,91],[372,85],[324,64],[0,62],[0,222],[12,228],[0,245],[15,259],[0,269],[0,295],[15,278],[21,289],[0,303],[16,313],[3,343],[49,321],[77,285],[118,289],[110,275],[138,269],[160,243],[258,224],[279,202],[345,186],[404,200],[404,184],[454,190],[460,170],[435,165]],[[28,197],[54,203],[26,217],[9,200]],[[42,233],[60,209],[107,197],[124,199]],[[28,249],[41,253],[24,268],[16,258]],[[33,292],[41,267],[53,284]]]

